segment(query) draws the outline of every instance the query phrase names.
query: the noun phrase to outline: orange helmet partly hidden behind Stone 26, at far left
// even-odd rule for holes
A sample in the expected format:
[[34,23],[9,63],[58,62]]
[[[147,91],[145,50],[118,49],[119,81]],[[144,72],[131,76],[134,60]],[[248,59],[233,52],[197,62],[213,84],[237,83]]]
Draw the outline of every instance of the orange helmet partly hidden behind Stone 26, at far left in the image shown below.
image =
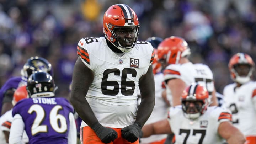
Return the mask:
[[24,98],[28,98],[28,92],[26,86],[18,87],[12,98],[12,105],[16,105],[16,103]]

